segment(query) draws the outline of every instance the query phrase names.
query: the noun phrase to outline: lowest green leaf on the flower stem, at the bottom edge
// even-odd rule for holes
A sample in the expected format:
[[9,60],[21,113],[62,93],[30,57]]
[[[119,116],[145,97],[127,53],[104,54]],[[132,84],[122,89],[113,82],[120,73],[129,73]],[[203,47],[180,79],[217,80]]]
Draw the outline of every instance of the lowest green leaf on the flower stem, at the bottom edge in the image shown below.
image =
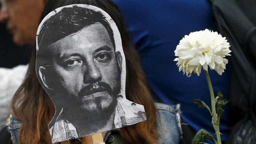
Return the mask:
[[196,133],[195,137],[192,140],[192,144],[200,144],[204,142],[205,139],[211,139],[215,142],[215,144],[218,144],[216,139],[204,129],[201,129]]

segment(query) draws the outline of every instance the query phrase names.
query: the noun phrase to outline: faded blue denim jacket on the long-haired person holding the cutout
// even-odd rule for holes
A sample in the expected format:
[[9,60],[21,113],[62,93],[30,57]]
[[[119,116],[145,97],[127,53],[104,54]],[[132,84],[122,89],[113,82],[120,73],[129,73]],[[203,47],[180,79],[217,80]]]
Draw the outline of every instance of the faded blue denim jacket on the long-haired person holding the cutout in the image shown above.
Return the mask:
[[[178,144],[181,137],[181,123],[180,123],[180,105],[165,105],[161,103],[155,103],[156,108],[159,111],[160,119],[157,120],[157,130],[159,132],[160,144]],[[22,123],[16,118],[10,115],[7,120],[7,130],[11,134],[11,141],[13,144],[19,144],[18,133]],[[104,137],[104,142],[112,143],[114,140],[109,141],[111,132],[107,132]]]

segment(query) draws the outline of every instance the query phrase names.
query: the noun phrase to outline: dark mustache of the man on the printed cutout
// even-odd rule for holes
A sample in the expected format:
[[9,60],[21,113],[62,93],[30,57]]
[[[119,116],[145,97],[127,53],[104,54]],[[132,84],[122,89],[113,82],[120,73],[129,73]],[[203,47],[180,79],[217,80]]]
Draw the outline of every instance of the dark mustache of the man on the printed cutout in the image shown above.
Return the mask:
[[113,95],[113,91],[110,87],[109,84],[104,83],[104,82],[96,82],[96,83],[91,83],[89,85],[87,85],[86,87],[84,87],[80,92],[79,92],[79,97],[84,97],[84,96],[88,96],[91,95],[93,93],[97,93],[97,92],[103,92],[106,91],[108,92],[110,95]]

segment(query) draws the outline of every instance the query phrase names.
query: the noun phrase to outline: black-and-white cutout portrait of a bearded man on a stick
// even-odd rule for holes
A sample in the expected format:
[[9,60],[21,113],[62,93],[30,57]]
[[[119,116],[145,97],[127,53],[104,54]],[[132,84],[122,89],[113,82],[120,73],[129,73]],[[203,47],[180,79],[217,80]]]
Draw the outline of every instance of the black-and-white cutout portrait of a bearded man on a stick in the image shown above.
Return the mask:
[[37,77],[56,108],[53,143],[146,120],[144,107],[125,97],[122,41],[105,11],[57,8],[40,23],[36,44]]

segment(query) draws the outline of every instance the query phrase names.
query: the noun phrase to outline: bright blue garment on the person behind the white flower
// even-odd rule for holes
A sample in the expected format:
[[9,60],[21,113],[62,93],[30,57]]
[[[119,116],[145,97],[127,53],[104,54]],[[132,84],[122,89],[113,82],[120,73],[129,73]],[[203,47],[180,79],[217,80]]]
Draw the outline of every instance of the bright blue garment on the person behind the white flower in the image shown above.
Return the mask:
[[[187,78],[178,71],[173,60],[179,41],[190,32],[210,29],[217,31],[208,0],[114,0],[127,22],[137,46],[141,65],[153,92],[166,104],[180,103],[181,117],[194,130],[202,128],[214,135],[211,116],[199,109],[191,99],[201,99],[210,106],[210,93],[204,72]],[[215,94],[229,97],[230,64],[222,76],[210,71]],[[222,140],[227,138],[227,106],[221,117]]]

